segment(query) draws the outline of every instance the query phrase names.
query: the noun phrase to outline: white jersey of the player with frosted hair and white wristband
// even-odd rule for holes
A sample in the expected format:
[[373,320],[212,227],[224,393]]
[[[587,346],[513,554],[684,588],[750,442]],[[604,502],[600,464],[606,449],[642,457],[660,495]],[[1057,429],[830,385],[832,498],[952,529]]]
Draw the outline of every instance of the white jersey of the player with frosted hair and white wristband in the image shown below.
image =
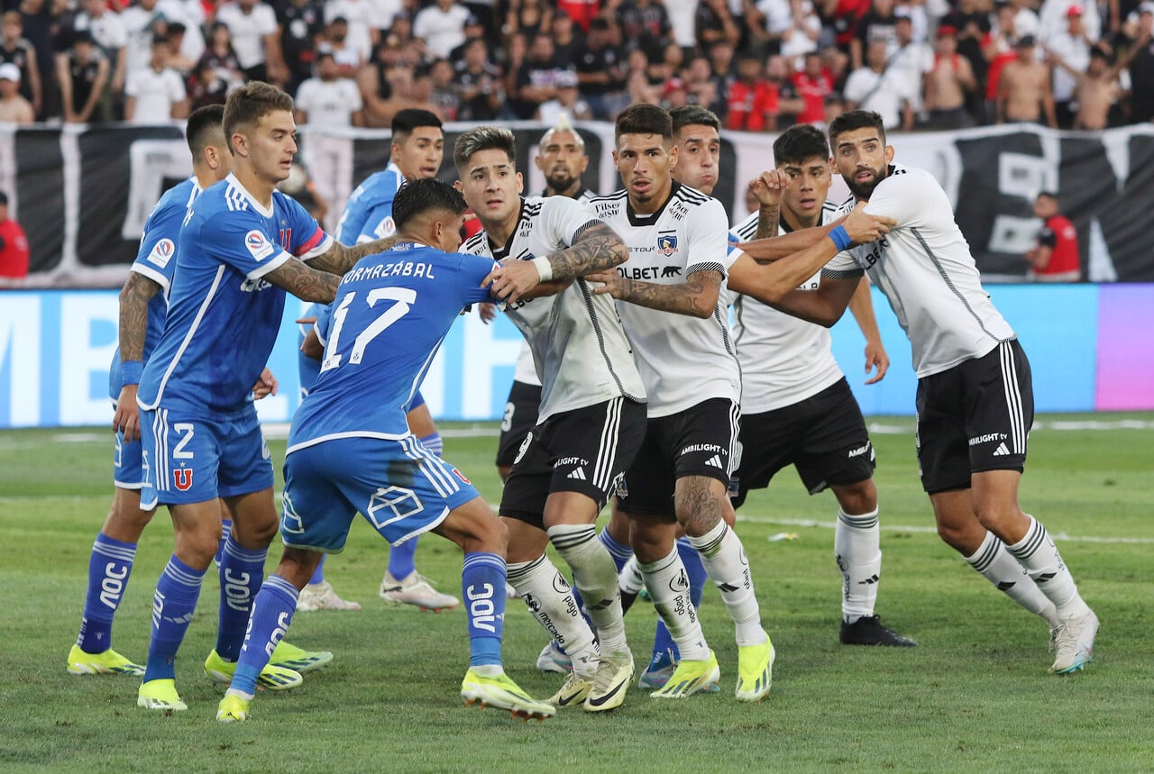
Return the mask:
[[[484,231],[462,250],[494,260],[534,257],[572,246],[576,234],[597,217],[587,205],[563,196],[529,198],[509,242],[494,249]],[[634,366],[629,339],[608,295],[594,295],[584,279],[556,295],[504,305],[525,336],[541,381],[539,421],[617,396],[645,401],[645,385]]]

